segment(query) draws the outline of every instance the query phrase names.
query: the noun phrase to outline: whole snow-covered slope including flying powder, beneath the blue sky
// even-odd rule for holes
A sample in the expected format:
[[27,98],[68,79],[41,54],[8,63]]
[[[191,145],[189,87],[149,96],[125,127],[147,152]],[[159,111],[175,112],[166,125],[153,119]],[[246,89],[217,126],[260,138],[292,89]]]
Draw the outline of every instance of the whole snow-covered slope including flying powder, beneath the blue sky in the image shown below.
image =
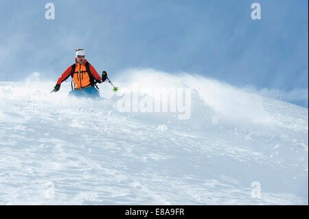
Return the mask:
[[[308,108],[152,69],[100,101],[38,77],[0,82],[1,205],[308,205]],[[190,119],[119,112],[133,82],[190,88]]]

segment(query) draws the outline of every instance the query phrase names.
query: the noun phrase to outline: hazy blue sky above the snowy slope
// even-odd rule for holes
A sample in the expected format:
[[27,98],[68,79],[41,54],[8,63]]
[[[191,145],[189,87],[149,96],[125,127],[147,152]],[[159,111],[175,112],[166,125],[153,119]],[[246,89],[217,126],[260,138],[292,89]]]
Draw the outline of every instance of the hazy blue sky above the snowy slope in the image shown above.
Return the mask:
[[[45,19],[45,4],[55,20]],[[251,4],[262,19],[251,19]],[[197,73],[308,107],[308,1],[0,0],[0,80],[57,80],[84,48],[97,69]]]

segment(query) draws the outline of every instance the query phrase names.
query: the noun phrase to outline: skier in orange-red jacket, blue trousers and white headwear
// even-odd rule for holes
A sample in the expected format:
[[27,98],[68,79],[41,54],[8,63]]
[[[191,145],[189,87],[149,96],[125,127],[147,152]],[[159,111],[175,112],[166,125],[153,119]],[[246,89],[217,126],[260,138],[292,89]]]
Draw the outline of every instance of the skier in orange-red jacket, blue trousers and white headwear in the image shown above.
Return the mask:
[[69,92],[69,95],[76,97],[100,97],[100,93],[95,89],[95,83],[102,83],[107,78],[106,71],[103,71],[102,78],[95,71],[95,68],[90,65],[85,57],[84,49],[76,49],[75,64],[68,67],[62,76],[58,78],[54,92],[59,91],[60,85],[64,80],[71,76],[74,84],[74,89]]

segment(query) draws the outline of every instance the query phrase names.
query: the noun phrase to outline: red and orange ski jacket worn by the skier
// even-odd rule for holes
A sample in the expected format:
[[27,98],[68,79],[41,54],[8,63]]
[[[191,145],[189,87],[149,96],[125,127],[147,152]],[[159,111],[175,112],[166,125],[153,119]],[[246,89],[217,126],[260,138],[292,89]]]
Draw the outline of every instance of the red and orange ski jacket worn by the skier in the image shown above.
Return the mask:
[[[102,83],[101,76],[98,74],[97,71],[95,71],[95,68],[89,64],[89,70],[90,72],[86,71],[85,63],[87,62],[87,59],[84,60],[84,63],[80,65],[80,63],[76,62],[76,68],[75,72],[73,74],[73,82],[74,82],[74,88],[75,89],[84,89],[85,87],[90,87],[92,85],[89,85],[89,73],[95,78],[95,80],[99,83]],[[71,76],[72,66],[68,67],[58,78],[57,84],[61,84],[64,80],[67,80],[69,76]]]

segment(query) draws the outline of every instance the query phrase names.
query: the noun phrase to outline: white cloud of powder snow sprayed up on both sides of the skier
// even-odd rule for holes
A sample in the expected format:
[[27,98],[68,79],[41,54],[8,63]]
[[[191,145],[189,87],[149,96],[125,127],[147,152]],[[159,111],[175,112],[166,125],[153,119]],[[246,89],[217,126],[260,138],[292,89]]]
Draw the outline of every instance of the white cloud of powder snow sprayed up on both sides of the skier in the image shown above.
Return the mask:
[[[107,80],[99,84],[102,97],[110,100],[76,100],[69,98],[69,82],[62,82],[58,93],[52,91],[55,82],[40,82],[40,73],[34,72],[23,83],[2,87],[2,97],[19,101],[60,104],[60,108],[98,106],[119,115],[133,116],[157,123],[205,130],[213,126],[233,129],[237,126],[281,126],[265,107],[275,101],[258,95],[252,89],[238,89],[211,78],[190,73],[170,74],[155,69],[129,69],[117,78],[110,76],[119,87],[113,93]],[[1,89],[1,87],[0,87]],[[2,100],[5,101],[5,100]],[[8,101],[8,99],[6,99]]]

